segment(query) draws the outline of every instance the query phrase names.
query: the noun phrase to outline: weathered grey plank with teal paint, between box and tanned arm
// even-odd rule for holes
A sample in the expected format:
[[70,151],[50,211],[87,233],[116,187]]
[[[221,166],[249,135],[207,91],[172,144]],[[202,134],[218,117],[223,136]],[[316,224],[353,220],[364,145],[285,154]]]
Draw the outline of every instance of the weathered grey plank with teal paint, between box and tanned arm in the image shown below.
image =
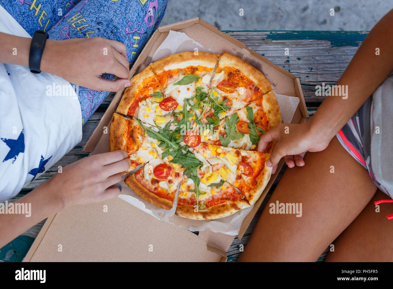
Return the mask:
[[[299,77],[306,103],[320,103],[315,86],[333,85],[367,31],[226,31],[275,65]],[[285,48],[289,55],[285,55]]]

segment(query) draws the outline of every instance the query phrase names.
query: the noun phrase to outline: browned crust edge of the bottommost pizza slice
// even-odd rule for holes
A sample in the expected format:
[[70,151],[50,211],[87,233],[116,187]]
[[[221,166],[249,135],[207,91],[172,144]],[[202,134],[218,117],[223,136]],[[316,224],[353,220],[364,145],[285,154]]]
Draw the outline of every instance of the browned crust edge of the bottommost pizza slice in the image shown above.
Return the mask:
[[176,208],[175,214],[193,220],[213,220],[228,217],[241,209],[250,207],[248,202],[244,201],[227,201],[224,204],[211,206],[206,210],[194,212],[194,206],[190,204],[181,204]]

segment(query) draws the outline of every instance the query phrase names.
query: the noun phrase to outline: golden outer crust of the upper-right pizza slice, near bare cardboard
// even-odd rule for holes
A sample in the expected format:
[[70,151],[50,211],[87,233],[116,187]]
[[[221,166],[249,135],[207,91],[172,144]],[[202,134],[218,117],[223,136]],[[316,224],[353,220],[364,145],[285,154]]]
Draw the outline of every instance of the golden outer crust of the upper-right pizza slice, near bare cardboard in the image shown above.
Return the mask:
[[243,59],[240,59],[239,57],[236,57],[235,55],[232,55],[228,52],[222,52],[217,68],[222,69],[225,66],[239,69],[242,74],[250,78],[259,87],[263,94],[272,90],[272,85],[266,79],[263,73]]

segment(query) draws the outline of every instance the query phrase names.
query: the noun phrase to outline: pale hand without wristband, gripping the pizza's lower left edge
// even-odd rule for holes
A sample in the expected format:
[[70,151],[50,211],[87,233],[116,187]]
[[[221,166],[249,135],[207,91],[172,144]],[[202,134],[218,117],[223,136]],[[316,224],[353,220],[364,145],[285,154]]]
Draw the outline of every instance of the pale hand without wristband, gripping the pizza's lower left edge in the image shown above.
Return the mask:
[[47,182],[63,207],[101,202],[119,195],[114,184],[131,165],[126,151],[112,151],[82,158],[62,168]]

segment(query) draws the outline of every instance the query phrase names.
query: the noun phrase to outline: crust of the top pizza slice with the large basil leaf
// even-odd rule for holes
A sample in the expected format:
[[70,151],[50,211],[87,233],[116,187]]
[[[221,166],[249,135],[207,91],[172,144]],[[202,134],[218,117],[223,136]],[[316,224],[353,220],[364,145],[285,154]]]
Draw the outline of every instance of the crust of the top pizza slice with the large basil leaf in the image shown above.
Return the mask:
[[187,66],[206,66],[214,68],[220,55],[216,53],[198,52],[197,55],[193,51],[185,51],[164,57],[150,64],[154,73],[160,74],[164,70],[185,68]]

